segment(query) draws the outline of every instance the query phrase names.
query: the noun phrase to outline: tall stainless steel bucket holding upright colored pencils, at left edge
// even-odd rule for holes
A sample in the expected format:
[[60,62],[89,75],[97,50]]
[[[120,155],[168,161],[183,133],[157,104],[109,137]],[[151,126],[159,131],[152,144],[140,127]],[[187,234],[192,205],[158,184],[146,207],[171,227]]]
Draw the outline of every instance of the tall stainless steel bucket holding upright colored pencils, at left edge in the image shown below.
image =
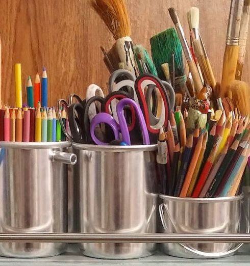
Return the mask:
[[[69,142],[0,142],[0,230],[4,233],[67,232]],[[0,255],[46,257],[63,243],[0,243]]]

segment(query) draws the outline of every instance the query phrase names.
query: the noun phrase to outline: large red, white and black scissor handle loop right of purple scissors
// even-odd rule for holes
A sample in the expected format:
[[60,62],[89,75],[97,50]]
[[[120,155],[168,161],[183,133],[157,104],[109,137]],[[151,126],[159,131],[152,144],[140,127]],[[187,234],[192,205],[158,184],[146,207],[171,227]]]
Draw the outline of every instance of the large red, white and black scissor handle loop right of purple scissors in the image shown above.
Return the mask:
[[[159,90],[158,102],[161,101],[163,103],[163,108],[161,109],[161,116],[157,123],[151,123],[150,116],[153,115],[152,110],[150,108],[150,104],[146,101],[146,89],[148,90],[149,85],[154,85]],[[151,87],[149,87],[150,90]],[[151,139],[151,143],[157,143],[160,128],[163,126],[164,128],[167,126],[167,122],[169,120],[170,115],[170,99],[167,94],[166,87],[162,83],[162,81],[152,75],[152,74],[141,74],[137,77],[135,81],[135,90],[139,99],[140,108],[145,118],[147,130],[149,132],[149,137]]]

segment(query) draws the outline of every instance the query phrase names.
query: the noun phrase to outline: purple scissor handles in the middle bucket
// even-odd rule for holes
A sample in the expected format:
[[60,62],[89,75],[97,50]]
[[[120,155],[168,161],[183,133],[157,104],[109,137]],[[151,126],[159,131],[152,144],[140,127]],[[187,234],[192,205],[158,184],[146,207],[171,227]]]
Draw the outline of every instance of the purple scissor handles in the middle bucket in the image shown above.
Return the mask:
[[124,107],[126,107],[126,105],[132,105],[132,107],[135,110],[135,113],[137,114],[137,118],[140,124],[140,129],[142,132],[143,144],[145,145],[150,144],[147,126],[146,126],[146,122],[143,117],[142,111],[139,105],[133,99],[129,99],[129,98],[121,99],[117,104],[116,112],[117,112],[119,124],[115,121],[113,116],[107,113],[99,113],[92,119],[90,123],[90,135],[94,143],[96,143],[97,145],[108,145],[108,143],[98,140],[94,134],[94,129],[98,124],[106,123],[112,128],[114,132],[115,140],[119,140],[119,135],[121,134],[122,140],[128,143],[128,145],[131,145],[129,128],[128,128],[128,124],[126,122],[126,118],[124,117],[124,112],[123,112],[123,109]]

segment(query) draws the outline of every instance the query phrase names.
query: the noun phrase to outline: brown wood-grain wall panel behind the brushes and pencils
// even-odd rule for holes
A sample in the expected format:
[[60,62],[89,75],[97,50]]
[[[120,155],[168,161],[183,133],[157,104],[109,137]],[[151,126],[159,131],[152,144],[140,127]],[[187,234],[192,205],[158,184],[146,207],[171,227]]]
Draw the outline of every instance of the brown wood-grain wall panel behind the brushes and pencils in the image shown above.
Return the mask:
[[[149,49],[149,38],[172,26],[168,8],[177,9],[188,32],[186,13],[200,9],[200,29],[217,79],[220,79],[230,0],[126,0],[132,38]],[[114,40],[88,0],[1,0],[0,34],[3,49],[4,102],[14,104],[14,64],[22,64],[23,100],[28,75],[33,82],[47,68],[49,103],[76,92],[85,96],[95,83],[106,88],[109,73],[100,45],[109,49]],[[250,81],[249,45],[243,79]]]

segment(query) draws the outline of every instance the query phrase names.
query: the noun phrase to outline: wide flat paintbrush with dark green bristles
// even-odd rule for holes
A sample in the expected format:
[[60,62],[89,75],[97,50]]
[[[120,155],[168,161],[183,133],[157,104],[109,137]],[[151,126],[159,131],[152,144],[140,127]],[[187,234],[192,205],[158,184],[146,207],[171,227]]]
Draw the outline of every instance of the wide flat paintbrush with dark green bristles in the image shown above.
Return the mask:
[[[169,72],[174,73],[174,82],[172,83],[177,93],[186,92],[186,76],[182,57],[182,45],[174,28],[169,28],[150,39],[151,54],[156,66],[158,76],[166,80],[162,65],[168,63]],[[174,64],[172,61],[174,57]]]

